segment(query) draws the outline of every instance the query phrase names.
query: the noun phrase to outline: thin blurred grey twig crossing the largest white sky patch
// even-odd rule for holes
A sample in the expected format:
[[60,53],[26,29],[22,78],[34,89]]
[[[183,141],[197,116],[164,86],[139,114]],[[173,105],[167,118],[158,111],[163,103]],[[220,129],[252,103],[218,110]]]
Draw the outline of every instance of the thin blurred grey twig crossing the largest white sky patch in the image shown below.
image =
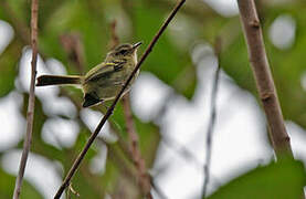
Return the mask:
[[210,122],[208,126],[208,133],[207,133],[207,156],[205,156],[205,165],[204,165],[204,184],[202,189],[202,198],[207,195],[207,189],[210,180],[210,164],[211,164],[211,148],[212,148],[212,136],[213,136],[213,129],[215,124],[215,116],[217,116],[217,108],[215,108],[215,102],[217,102],[217,94],[218,94],[218,85],[219,85],[219,76],[220,76],[220,64],[219,64],[219,54],[221,51],[221,41],[220,38],[217,38],[215,44],[214,44],[214,54],[218,57],[218,67],[214,74],[213,84],[212,84],[212,91],[211,91],[211,112],[210,112]]

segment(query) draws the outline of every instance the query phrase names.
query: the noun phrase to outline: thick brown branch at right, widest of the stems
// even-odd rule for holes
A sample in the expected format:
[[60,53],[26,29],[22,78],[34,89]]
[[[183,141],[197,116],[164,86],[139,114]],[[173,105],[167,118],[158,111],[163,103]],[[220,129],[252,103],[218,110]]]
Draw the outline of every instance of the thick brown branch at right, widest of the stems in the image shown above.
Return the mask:
[[270,136],[276,154],[293,156],[289,136],[286,132],[276,88],[270,71],[260,20],[253,0],[238,0],[241,23],[247,43],[249,57],[256,86],[270,127]]

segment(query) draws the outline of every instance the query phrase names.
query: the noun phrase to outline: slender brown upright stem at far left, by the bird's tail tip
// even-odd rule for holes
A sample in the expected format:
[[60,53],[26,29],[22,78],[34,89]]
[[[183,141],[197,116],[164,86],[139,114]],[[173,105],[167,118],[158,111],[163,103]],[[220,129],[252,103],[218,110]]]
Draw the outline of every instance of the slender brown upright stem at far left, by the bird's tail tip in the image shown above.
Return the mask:
[[31,61],[31,85],[29,93],[29,106],[27,113],[27,134],[23,144],[22,156],[19,165],[19,172],[15,179],[15,187],[13,198],[18,199],[21,192],[22,180],[27,166],[27,160],[32,142],[34,107],[35,107],[35,78],[36,78],[36,63],[38,63],[38,13],[39,0],[32,0],[31,6],[31,45],[32,45],[32,61]]

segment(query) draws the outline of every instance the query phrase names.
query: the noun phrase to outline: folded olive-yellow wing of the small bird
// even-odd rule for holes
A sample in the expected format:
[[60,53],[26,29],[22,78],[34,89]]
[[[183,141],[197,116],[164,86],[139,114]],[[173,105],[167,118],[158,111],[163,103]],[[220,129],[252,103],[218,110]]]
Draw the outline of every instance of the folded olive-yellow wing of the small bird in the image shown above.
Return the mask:
[[97,81],[102,77],[110,75],[114,72],[120,71],[125,62],[107,62],[102,63],[94,69],[92,69],[85,77],[86,82]]

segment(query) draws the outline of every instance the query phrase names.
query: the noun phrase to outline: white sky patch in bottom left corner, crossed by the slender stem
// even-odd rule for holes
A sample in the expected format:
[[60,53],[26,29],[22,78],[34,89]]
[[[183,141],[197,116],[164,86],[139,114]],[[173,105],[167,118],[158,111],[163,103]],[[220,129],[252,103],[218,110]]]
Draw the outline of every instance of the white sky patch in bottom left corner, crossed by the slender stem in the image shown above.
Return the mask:
[[[21,150],[11,150],[1,158],[2,168],[12,175],[17,175]],[[62,178],[59,175],[59,165],[40,155],[30,153],[27,163],[24,178],[42,193],[44,198],[53,198],[61,186]]]

